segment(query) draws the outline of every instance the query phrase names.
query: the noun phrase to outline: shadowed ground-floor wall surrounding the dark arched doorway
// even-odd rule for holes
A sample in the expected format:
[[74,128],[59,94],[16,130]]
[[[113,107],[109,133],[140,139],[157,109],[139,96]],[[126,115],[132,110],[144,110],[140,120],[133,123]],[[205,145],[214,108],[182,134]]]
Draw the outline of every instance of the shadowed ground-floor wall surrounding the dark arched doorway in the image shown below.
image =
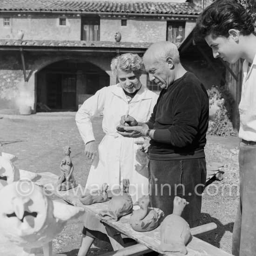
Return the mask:
[[[37,83],[37,72],[49,64],[56,61],[67,59],[88,61],[100,67],[108,75],[110,75],[110,84],[113,84],[115,78],[110,70],[110,61],[114,55],[106,54],[99,56],[99,54],[91,53],[88,56],[81,56],[78,54],[50,54],[37,53],[25,54],[26,60],[26,74],[28,81],[24,81],[23,69],[20,61],[20,54],[18,53],[0,53],[0,112],[13,110],[13,113],[18,114],[18,108],[22,104],[31,106],[33,112],[36,108],[37,90],[40,90],[42,81]],[[39,75],[43,79],[44,75]],[[81,77],[79,77],[79,88],[82,87]],[[42,94],[43,95],[43,94]],[[9,111],[10,112],[10,111]],[[8,113],[7,113],[8,114]]]

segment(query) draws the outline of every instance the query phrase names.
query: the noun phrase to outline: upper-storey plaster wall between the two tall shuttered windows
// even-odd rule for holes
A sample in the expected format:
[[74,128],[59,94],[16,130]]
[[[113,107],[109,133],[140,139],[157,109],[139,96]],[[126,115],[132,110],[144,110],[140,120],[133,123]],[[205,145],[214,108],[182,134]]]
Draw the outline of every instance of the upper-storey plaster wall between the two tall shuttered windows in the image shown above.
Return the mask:
[[115,41],[115,33],[121,33],[123,42],[156,42],[166,40],[166,20],[127,20],[127,26],[121,26],[119,19],[101,19],[101,41]]

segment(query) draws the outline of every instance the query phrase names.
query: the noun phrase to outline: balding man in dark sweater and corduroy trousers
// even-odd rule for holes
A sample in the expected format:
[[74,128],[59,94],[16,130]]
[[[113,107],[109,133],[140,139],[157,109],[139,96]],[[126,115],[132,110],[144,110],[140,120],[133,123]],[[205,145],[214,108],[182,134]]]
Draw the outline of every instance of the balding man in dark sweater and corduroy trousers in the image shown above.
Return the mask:
[[[209,118],[209,97],[202,82],[184,69],[175,44],[151,45],[143,57],[149,80],[162,88],[150,120],[138,123],[122,116],[123,136],[150,138],[148,152],[151,207],[173,212],[175,195],[189,204],[182,217],[190,227],[199,224],[202,191],[206,182],[204,146]],[[143,146],[143,145],[142,145]],[[141,147],[144,151],[145,147]]]

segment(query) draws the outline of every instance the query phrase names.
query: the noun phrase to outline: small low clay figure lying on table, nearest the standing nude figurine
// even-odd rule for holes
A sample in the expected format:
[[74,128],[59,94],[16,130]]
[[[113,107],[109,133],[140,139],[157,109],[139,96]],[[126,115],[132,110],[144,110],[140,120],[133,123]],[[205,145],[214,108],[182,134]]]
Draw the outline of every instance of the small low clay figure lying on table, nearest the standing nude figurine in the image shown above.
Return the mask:
[[106,202],[108,199],[108,193],[106,192],[108,189],[108,184],[104,183],[101,189],[93,190],[91,189],[90,192],[86,193],[85,195],[81,195],[79,200],[84,205],[90,205],[96,202]]

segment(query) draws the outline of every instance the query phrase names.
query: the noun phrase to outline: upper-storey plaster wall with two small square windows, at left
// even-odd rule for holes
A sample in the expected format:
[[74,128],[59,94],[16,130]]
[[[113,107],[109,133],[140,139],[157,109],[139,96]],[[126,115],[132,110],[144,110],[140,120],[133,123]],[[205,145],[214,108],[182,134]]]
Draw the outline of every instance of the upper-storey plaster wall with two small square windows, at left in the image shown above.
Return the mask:
[[[5,17],[10,17],[10,26],[4,26]],[[60,25],[60,17],[66,17],[66,26]],[[0,14],[1,39],[18,39],[19,30],[24,31],[23,40],[81,40],[81,17],[76,14]]]

